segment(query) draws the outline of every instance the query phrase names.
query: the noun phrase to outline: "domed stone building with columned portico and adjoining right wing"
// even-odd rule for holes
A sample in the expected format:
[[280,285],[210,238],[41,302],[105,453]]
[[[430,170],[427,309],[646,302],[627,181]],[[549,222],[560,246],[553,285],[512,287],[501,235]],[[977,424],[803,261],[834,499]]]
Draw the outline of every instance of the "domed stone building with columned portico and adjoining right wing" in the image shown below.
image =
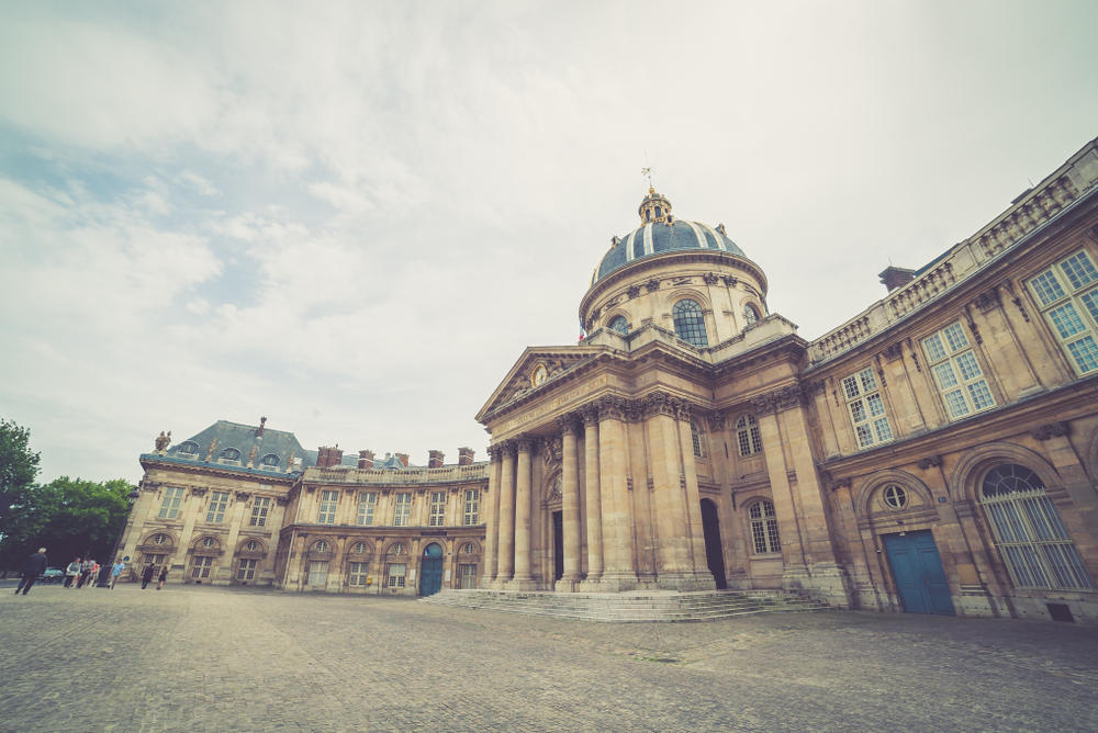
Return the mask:
[[[1098,620],[1098,142],[807,341],[650,189],[492,436],[480,587]],[[750,250],[750,247],[748,247]]]

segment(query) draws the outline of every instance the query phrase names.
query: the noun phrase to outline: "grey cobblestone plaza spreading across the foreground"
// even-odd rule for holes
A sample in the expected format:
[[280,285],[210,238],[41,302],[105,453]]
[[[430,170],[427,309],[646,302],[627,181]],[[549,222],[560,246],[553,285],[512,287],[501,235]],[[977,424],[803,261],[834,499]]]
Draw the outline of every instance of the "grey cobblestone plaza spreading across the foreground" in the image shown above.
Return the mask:
[[1098,730],[1088,625],[604,624],[269,588],[0,588],[2,733]]

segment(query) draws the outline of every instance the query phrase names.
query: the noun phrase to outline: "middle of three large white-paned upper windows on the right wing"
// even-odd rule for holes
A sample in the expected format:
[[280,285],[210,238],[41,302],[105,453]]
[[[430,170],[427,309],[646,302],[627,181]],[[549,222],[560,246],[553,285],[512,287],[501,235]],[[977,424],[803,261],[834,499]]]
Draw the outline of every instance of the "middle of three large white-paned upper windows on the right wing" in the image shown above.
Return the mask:
[[976,352],[960,320],[922,339],[922,350],[951,420],[995,407]]

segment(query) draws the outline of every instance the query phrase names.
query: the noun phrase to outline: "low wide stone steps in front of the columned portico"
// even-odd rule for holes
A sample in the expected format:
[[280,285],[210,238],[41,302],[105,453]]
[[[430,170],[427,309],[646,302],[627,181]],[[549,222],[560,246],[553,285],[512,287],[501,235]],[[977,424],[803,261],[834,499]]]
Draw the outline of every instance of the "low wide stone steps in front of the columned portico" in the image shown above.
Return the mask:
[[446,589],[421,598],[419,602],[607,623],[710,621],[758,613],[831,610],[825,602],[791,590],[549,593]]

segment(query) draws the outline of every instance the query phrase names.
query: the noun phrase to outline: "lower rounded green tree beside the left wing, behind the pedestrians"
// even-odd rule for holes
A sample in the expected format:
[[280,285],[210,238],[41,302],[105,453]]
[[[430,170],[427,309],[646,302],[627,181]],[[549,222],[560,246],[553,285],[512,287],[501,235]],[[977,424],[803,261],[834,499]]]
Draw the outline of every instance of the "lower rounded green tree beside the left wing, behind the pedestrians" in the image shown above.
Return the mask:
[[97,483],[68,476],[32,485],[5,522],[0,568],[18,567],[42,546],[55,567],[76,556],[105,563],[125,521],[132,488],[124,478]]

